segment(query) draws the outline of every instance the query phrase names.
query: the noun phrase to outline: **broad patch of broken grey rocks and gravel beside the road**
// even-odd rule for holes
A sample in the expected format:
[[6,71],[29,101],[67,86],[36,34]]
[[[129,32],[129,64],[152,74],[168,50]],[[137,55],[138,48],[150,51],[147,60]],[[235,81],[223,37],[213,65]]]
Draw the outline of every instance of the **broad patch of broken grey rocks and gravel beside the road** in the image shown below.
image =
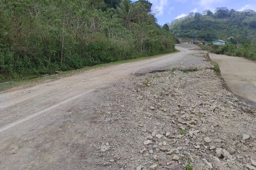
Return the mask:
[[255,167],[249,162],[255,137],[246,134],[256,128],[256,112],[213,70],[157,72],[122,83],[95,111],[106,133],[96,146],[98,169],[184,169],[188,161],[193,169]]

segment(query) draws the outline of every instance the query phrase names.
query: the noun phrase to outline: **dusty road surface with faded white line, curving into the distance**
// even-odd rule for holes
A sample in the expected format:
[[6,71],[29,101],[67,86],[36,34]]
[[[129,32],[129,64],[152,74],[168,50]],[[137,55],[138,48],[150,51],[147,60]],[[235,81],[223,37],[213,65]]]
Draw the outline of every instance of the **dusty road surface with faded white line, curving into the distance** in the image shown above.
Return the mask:
[[97,164],[88,159],[92,144],[102,136],[92,113],[101,94],[132,74],[206,64],[196,46],[177,48],[181,52],[1,92],[0,169],[91,169]]

